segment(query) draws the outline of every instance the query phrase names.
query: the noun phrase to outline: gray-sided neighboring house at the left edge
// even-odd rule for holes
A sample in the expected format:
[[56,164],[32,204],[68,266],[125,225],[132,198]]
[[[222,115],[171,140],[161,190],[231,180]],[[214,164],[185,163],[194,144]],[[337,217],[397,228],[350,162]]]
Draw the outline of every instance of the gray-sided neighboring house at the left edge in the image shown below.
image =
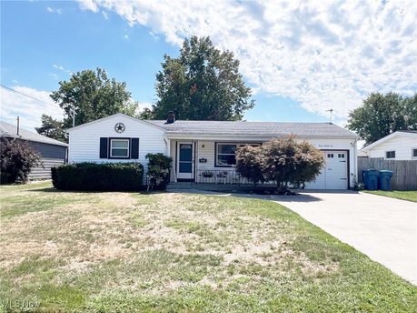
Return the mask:
[[23,140],[29,143],[42,157],[43,167],[34,167],[29,174],[29,179],[50,178],[51,167],[65,163],[67,144],[39,135],[5,122],[0,122],[0,136],[9,139]]

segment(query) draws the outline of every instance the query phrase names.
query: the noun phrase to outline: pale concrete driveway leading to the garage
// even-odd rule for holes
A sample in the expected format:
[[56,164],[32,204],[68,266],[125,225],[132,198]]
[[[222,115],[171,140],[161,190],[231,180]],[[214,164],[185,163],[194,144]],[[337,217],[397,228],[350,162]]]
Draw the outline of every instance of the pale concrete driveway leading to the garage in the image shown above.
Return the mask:
[[417,285],[417,204],[353,191],[277,197],[324,231]]

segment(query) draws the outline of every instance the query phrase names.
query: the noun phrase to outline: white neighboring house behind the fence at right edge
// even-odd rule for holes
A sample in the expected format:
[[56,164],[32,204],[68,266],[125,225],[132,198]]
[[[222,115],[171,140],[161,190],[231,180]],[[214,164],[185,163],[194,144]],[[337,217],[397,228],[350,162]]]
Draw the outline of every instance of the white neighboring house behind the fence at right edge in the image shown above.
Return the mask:
[[400,130],[362,147],[368,157],[386,160],[417,160],[417,131]]

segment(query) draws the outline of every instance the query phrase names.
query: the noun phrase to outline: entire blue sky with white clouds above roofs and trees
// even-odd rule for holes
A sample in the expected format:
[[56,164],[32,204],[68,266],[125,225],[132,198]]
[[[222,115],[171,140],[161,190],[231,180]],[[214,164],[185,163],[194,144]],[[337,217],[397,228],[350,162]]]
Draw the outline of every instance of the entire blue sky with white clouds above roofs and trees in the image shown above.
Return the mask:
[[[164,54],[210,35],[241,60],[256,121],[345,124],[374,91],[417,90],[415,1],[2,1],[1,84],[53,104],[71,73],[104,68],[141,106],[154,103]],[[57,106],[1,88],[1,118],[26,128]]]

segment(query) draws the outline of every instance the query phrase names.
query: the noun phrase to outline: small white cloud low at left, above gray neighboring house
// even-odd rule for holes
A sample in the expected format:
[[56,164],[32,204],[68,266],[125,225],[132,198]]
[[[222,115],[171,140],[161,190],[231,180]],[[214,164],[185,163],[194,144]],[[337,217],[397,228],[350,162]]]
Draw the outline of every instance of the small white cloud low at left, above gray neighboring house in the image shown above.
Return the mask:
[[[14,86],[12,89],[54,105],[53,100],[49,96],[51,93],[48,91],[36,90],[25,86]],[[2,118],[7,123],[13,123],[11,121],[15,120],[16,116],[20,116],[21,126],[34,131],[35,126],[41,125],[41,116],[44,113],[57,119],[63,119],[64,110],[58,105],[46,105],[27,96],[17,94],[5,88],[1,89]]]

